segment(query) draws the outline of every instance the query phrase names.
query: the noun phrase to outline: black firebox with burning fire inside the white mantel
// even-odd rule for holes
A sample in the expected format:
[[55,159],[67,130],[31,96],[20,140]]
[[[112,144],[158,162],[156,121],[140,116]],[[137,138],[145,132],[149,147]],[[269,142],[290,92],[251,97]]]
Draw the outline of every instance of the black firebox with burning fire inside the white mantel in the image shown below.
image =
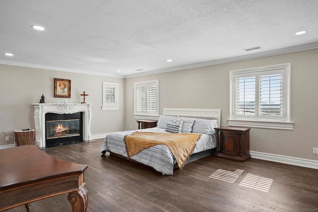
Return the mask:
[[45,141],[46,147],[64,146],[81,143],[82,112],[72,114],[45,114]]

